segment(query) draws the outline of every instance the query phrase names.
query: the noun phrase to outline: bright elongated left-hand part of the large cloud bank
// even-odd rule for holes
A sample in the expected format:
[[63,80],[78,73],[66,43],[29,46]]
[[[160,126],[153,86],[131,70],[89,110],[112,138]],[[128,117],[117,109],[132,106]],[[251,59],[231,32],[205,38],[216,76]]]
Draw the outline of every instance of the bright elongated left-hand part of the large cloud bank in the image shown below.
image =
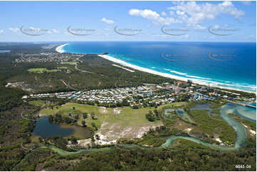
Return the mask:
[[175,20],[172,17],[163,18],[156,11],[152,11],[150,9],[130,9],[129,14],[131,16],[141,16],[142,18],[147,18],[148,20],[152,20],[154,23],[160,23],[163,25],[168,25],[171,23],[179,23],[180,21]]

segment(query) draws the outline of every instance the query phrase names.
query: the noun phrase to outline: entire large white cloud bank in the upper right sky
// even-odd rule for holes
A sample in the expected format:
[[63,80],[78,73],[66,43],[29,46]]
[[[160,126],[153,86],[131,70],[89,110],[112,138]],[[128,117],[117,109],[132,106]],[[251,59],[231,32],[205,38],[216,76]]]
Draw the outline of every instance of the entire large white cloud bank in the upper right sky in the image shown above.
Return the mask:
[[[219,4],[178,1],[173,4],[174,6],[168,8],[170,10],[169,17],[163,11],[159,15],[151,9],[130,9],[129,14],[131,16],[141,16],[142,18],[147,18],[154,23],[160,23],[162,25],[181,23],[182,21],[184,23],[199,24],[203,21],[214,20],[221,14],[234,16],[238,19],[245,14],[244,11],[236,9],[231,1],[223,1]],[[201,29],[203,28],[201,27]]]

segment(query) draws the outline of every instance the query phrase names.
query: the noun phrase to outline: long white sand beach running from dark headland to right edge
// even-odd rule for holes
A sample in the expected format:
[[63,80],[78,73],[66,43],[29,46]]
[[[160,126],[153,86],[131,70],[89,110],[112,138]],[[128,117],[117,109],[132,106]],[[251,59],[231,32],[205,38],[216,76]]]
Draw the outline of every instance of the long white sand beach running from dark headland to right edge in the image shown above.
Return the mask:
[[240,91],[240,92],[256,93],[256,92],[251,92],[251,91],[247,91],[247,90],[236,89],[236,88],[233,88],[233,87],[222,87],[222,86],[219,86],[219,85],[215,85],[213,83],[209,84],[209,83],[201,82],[201,81],[199,81],[197,79],[194,79],[194,78],[179,77],[179,76],[168,74],[168,73],[163,73],[163,72],[158,72],[158,71],[147,69],[147,68],[142,68],[140,66],[132,65],[130,63],[127,63],[123,60],[120,60],[120,59],[117,59],[117,58],[112,58],[110,55],[98,55],[98,56],[100,56],[101,58],[105,58],[106,60],[110,60],[114,63],[118,63],[120,65],[124,65],[126,67],[133,68],[135,70],[140,70],[142,72],[148,72],[148,73],[151,73],[151,74],[154,74],[154,75],[159,75],[159,76],[162,76],[162,77],[169,77],[169,78],[174,79],[174,80],[182,80],[184,82],[187,82],[187,80],[192,80],[192,82],[194,84],[216,87],[216,88],[226,89],[226,90],[236,90],[236,91]]

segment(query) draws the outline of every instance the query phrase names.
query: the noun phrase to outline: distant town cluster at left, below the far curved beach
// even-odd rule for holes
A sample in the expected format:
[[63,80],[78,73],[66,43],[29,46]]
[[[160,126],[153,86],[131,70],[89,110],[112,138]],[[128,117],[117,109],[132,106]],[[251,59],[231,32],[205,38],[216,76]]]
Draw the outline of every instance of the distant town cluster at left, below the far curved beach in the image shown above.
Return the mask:
[[69,53],[38,53],[21,54],[15,59],[15,63],[65,63],[80,58],[83,55]]

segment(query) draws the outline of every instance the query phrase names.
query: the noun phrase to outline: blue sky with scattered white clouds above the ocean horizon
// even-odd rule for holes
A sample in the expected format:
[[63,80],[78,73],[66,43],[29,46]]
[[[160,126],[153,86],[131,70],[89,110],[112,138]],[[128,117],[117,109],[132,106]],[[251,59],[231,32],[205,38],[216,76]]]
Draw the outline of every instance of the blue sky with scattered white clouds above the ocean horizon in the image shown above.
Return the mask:
[[256,42],[256,1],[0,1],[1,42]]

